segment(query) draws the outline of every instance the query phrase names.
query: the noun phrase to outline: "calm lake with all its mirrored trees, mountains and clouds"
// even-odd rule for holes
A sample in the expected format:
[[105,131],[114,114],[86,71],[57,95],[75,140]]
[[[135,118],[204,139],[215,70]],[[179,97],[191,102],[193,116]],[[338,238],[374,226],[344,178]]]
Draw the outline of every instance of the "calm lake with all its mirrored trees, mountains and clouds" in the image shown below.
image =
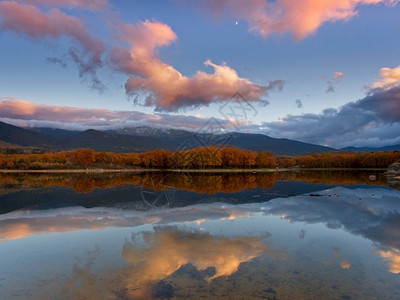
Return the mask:
[[383,171],[0,174],[1,299],[400,299]]

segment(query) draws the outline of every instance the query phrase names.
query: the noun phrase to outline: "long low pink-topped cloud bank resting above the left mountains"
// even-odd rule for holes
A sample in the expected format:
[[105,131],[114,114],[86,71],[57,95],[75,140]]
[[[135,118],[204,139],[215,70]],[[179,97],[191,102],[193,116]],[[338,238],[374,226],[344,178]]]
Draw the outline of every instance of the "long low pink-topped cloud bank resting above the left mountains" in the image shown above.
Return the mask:
[[[70,106],[36,104],[25,100],[4,98],[0,101],[0,120],[22,127],[65,129],[112,129],[135,126],[167,126],[197,130],[207,121],[204,117],[177,114],[145,114],[138,111],[112,111]],[[224,128],[233,125],[218,119]]]

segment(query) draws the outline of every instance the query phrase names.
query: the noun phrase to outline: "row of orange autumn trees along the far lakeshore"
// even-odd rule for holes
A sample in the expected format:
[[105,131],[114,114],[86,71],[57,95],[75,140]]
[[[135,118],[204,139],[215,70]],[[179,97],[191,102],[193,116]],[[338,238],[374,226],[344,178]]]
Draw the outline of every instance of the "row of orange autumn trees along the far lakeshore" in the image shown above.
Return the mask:
[[0,154],[1,169],[45,170],[82,168],[387,168],[400,162],[400,151],[327,152],[276,156],[233,147],[200,147],[183,151],[154,150],[144,153],[95,152],[92,149],[43,154]]

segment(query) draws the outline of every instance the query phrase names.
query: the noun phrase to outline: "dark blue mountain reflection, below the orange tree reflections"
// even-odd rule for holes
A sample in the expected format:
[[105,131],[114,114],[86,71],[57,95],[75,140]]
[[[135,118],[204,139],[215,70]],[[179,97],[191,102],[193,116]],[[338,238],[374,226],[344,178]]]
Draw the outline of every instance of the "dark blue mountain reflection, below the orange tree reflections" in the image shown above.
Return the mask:
[[[200,203],[224,202],[229,204],[264,202],[274,198],[284,198],[298,194],[313,193],[329,186],[309,184],[301,181],[277,181],[269,189],[250,189],[236,193],[217,193],[204,195],[190,191],[173,190],[173,198],[167,201],[167,191],[154,191],[141,186],[125,185],[109,189],[94,189],[91,193],[76,193],[62,187],[25,188],[3,190],[0,195],[0,214],[18,209],[43,210],[71,206],[117,207],[122,209],[146,211],[162,207],[185,207]],[[0,189],[1,191],[1,189]],[[160,197],[155,203],[154,197]]]

